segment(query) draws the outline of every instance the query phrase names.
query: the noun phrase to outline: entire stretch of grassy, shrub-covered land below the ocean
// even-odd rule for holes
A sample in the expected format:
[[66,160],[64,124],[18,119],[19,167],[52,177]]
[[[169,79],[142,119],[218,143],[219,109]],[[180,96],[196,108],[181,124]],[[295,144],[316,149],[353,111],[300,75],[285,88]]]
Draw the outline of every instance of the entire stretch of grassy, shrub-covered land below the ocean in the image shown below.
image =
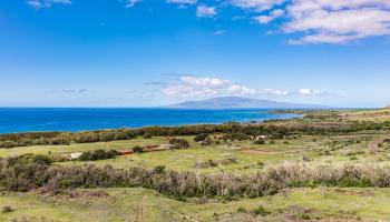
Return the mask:
[[0,135],[0,221],[390,220],[390,113],[293,112]]

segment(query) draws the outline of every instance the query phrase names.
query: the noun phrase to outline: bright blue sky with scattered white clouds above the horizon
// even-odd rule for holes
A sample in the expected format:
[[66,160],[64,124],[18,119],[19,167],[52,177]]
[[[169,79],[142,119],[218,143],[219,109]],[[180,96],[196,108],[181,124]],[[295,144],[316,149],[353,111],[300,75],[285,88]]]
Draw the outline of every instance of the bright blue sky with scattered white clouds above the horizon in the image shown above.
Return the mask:
[[389,0],[3,0],[0,107],[390,104]]

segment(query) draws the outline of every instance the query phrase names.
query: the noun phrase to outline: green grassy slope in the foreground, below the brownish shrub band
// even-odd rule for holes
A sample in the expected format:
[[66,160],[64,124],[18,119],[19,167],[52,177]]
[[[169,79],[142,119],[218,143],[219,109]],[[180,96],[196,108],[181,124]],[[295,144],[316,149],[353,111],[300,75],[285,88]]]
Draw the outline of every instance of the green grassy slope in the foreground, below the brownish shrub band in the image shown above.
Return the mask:
[[[181,202],[146,189],[108,189],[109,196],[42,196],[36,193],[0,195],[0,208],[10,205],[12,213],[0,213],[0,221],[29,218],[57,221],[228,221],[246,218],[237,209],[251,211],[260,205],[271,211],[265,219],[280,221],[309,215],[311,219],[390,219],[390,189],[296,189],[260,199],[223,202],[198,200]],[[186,220],[186,219],[188,220]],[[262,216],[257,216],[260,219]],[[264,219],[264,218],[263,218]]]

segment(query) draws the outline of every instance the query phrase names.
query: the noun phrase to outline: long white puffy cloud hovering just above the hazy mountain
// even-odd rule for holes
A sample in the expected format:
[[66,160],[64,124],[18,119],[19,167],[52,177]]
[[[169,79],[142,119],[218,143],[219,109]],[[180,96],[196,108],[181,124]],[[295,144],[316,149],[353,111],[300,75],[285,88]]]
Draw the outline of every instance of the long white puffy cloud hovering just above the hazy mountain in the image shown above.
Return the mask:
[[177,81],[164,84],[162,92],[173,98],[196,98],[214,95],[287,95],[285,90],[253,89],[234,84],[218,78],[182,75]]

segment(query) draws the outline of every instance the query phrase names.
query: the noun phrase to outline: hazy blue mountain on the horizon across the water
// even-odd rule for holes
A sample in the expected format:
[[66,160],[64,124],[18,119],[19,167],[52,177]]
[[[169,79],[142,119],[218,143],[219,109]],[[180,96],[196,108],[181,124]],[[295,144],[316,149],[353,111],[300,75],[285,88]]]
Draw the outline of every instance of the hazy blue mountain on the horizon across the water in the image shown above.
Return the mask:
[[241,97],[223,97],[213,98],[199,101],[187,101],[177,104],[168,105],[168,108],[183,108],[183,109],[233,109],[233,108],[271,108],[271,109],[304,109],[304,108],[324,108],[314,104],[301,104],[290,102],[275,102],[271,100],[259,100],[252,98]]

